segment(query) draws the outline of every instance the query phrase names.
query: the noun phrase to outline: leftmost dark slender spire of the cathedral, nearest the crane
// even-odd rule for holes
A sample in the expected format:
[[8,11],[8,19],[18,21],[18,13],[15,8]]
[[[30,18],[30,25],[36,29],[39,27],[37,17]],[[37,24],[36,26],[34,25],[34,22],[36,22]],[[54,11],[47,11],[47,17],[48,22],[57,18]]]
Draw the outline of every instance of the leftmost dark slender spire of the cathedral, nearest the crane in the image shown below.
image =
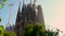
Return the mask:
[[17,12],[17,16],[16,16],[16,22],[15,22],[15,33],[17,34],[17,36],[21,36],[21,24],[22,24],[22,13],[21,13],[21,2],[18,5],[18,12]]

